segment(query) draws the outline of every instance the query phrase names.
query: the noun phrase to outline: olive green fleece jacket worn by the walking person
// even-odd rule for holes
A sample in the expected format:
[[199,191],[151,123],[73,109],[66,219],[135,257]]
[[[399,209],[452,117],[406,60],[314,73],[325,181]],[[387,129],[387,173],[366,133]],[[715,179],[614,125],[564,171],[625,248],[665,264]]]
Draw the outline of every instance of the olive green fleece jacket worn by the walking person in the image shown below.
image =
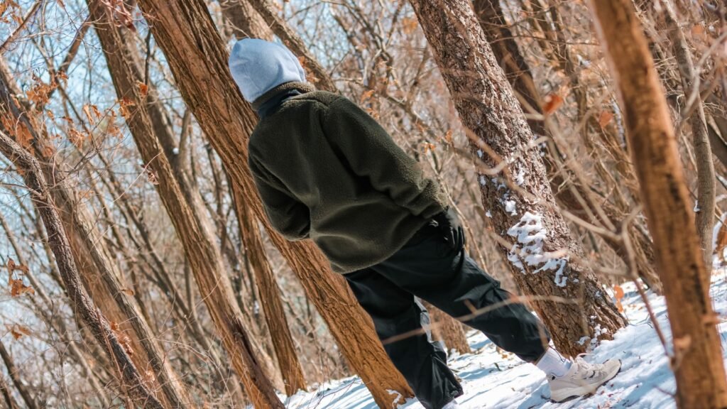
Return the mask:
[[313,239],[338,273],[373,266],[401,249],[446,207],[437,183],[350,100],[308,84],[281,84],[254,101],[284,100],[255,127],[249,166],[273,227]]

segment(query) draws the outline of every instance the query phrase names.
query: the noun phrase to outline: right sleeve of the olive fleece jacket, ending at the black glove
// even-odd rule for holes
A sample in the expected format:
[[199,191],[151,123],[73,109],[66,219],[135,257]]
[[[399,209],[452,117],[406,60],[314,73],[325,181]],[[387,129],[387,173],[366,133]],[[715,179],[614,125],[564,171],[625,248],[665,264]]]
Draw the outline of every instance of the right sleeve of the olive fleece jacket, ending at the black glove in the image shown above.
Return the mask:
[[444,210],[446,201],[437,183],[425,178],[417,161],[355,103],[343,97],[330,103],[324,132],[356,175],[411,214],[430,218]]

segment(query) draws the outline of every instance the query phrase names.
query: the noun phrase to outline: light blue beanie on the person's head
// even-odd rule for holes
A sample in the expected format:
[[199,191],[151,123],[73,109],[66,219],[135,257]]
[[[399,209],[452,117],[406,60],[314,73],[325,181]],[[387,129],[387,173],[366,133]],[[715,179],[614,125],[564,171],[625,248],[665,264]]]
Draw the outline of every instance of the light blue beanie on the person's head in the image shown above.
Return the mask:
[[284,45],[241,39],[230,53],[230,73],[249,103],[286,82],[305,82],[297,57]]

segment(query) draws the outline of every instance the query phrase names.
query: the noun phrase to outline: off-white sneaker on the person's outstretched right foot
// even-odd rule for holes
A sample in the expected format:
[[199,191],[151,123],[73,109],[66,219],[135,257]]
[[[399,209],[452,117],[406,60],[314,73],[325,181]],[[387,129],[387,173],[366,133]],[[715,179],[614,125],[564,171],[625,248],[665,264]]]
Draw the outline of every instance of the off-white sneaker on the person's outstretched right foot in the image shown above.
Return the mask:
[[590,364],[579,355],[571,369],[563,376],[548,376],[550,400],[563,402],[571,397],[592,394],[599,386],[606,384],[621,370],[620,360],[607,360],[602,364]]

